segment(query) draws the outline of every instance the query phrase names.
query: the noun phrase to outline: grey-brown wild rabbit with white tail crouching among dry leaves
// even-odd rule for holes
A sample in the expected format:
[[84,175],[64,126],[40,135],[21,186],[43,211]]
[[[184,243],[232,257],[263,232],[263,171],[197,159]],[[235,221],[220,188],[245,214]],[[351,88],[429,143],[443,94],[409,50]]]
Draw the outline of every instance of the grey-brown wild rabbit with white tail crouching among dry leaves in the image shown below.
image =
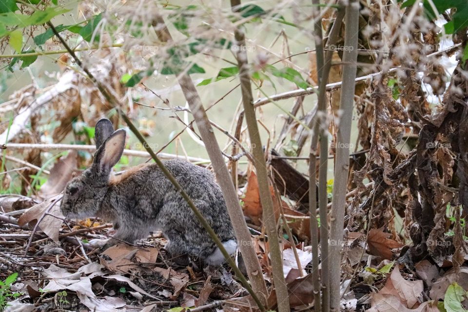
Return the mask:
[[[224,256],[198,222],[187,202],[156,164],[138,166],[112,176],[125,146],[126,132],[114,131],[109,119],[96,124],[96,148],[91,168],[72,179],[63,192],[60,210],[67,217],[97,216],[114,223],[115,238],[133,243],[159,230],[168,239],[173,256],[197,255],[207,264],[220,265]],[[228,253],[237,243],[226,203],[213,174],[183,160],[164,165],[192,198],[215,230]]]

